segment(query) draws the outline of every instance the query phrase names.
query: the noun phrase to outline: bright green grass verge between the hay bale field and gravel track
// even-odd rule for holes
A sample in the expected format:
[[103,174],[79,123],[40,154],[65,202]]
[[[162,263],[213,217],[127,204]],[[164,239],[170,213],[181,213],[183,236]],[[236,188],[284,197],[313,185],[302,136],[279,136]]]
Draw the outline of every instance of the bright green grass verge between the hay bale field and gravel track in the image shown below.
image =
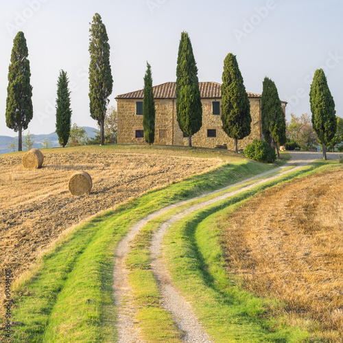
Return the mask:
[[[86,148],[72,149],[79,152]],[[115,147],[105,146],[104,152],[111,149]],[[13,342],[113,342],[117,334],[112,295],[115,248],[130,226],[167,204],[274,167],[232,158],[214,171],[145,193],[75,228],[13,289],[16,308],[12,308],[12,318],[25,324],[13,328]],[[27,291],[29,295],[19,295]]]

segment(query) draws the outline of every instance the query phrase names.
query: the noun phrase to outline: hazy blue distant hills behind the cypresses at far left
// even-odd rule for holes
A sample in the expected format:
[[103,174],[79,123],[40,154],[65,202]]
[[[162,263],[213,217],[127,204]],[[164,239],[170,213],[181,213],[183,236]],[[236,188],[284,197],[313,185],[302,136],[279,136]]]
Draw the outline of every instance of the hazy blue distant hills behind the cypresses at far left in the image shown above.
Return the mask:
[[[83,126],[84,130],[86,130],[86,134],[88,137],[95,137],[96,133],[94,131],[98,131],[95,128],[89,128],[88,126]],[[52,132],[50,134],[33,134],[33,139],[34,139],[34,147],[36,149],[40,149],[43,147],[43,141],[45,138],[47,138],[51,144],[52,147],[59,147],[60,145],[58,144],[58,136],[56,132]],[[25,136],[23,136],[24,139]],[[10,137],[10,136],[0,136],[0,154],[7,154],[8,152],[12,152],[13,150],[8,149],[8,145],[12,143],[13,140],[16,140],[16,146],[18,147],[18,137]],[[24,148],[24,147],[23,147]],[[17,150],[16,150],[17,151]]]

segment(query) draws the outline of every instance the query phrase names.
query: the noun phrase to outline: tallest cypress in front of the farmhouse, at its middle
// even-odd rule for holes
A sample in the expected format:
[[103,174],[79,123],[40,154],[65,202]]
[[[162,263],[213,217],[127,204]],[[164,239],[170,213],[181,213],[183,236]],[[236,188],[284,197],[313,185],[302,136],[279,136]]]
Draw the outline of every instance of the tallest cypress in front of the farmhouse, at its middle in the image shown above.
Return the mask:
[[196,59],[187,32],[182,32],[178,47],[176,115],[178,126],[189,137],[188,145],[191,147],[191,137],[202,126],[202,102],[199,90],[198,67],[196,67]]

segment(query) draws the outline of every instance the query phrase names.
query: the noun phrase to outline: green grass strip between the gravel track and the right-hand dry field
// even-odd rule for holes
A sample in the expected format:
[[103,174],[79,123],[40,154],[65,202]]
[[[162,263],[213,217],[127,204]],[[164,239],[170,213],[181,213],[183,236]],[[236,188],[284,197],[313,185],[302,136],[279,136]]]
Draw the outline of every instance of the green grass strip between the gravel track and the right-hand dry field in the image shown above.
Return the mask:
[[[248,198],[287,180],[327,168],[316,163],[250,189],[202,211],[187,215],[169,228],[164,253],[176,286],[190,301],[198,318],[215,342],[315,342],[306,327],[292,326],[268,317],[268,308],[282,306],[276,300],[252,296],[224,269],[215,216],[235,211]],[[211,228],[211,229],[209,229]]]

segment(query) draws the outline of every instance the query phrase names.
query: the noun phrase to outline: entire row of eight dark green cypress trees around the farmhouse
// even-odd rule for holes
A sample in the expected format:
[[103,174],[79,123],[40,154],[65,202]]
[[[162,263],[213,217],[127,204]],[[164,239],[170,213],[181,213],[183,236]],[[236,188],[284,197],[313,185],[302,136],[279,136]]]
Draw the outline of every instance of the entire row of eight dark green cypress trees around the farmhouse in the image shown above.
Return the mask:
[[[89,99],[91,117],[100,126],[100,141],[104,144],[104,121],[108,106],[108,97],[112,93],[113,78],[110,68],[110,45],[106,27],[99,14],[93,16],[91,24],[89,53]],[[22,150],[23,130],[27,129],[33,117],[32,86],[29,82],[31,73],[28,50],[23,32],[14,38],[11,64],[8,72],[8,97],[6,99],[6,124],[8,128],[19,132],[19,151]],[[71,107],[69,80],[67,73],[60,71],[58,78],[58,97],[56,100],[56,132],[62,147],[67,144],[71,128]],[[335,104],[327,85],[327,78],[322,69],[314,74],[311,84],[310,104],[312,124],[323,145],[323,157],[326,156],[326,145],[335,135]],[[191,40],[187,32],[182,32],[178,49],[176,67],[176,113],[178,125],[182,132],[191,137],[202,127],[202,102],[199,90],[198,67],[193,55]],[[265,141],[274,145],[279,156],[279,145],[286,142],[285,115],[281,101],[272,80],[263,80],[261,98],[262,132]],[[228,54],[224,60],[222,75],[222,128],[228,137],[237,141],[248,136],[251,131],[250,103],[244,80],[239,71],[236,56]],[[144,77],[143,126],[147,143],[154,143],[155,106],[152,91],[152,71],[147,63]]]

